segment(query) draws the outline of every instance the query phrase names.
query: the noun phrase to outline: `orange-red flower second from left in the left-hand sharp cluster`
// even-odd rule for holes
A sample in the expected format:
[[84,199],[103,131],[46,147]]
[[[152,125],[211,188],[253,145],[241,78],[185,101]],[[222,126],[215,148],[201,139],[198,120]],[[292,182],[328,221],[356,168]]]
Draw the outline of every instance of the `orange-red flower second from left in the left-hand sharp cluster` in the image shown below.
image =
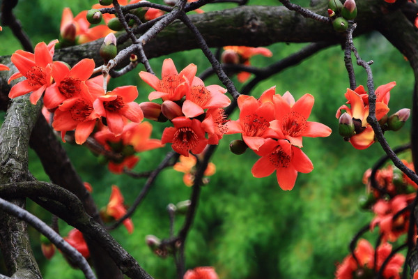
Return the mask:
[[64,100],[82,95],[82,90],[88,88],[86,80],[91,76],[95,67],[93,59],[82,59],[75,66],[68,69],[65,63],[54,62],[52,77],[55,83],[47,88],[44,96],[44,105],[48,109],[58,107]]

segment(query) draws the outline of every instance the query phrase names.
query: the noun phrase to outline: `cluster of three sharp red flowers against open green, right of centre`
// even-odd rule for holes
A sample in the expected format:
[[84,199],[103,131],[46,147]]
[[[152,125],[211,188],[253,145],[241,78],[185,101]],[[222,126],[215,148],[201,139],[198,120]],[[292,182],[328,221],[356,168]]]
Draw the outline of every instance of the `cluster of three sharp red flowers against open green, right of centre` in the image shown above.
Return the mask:
[[276,171],[283,190],[292,190],[297,172],[311,172],[314,166],[300,149],[302,137],[327,137],[331,129],[322,123],[307,121],[314,96],[305,94],[295,102],[291,93],[275,94],[266,90],[258,100],[238,97],[240,119],[227,122],[226,134],[240,133],[245,144],[261,158],[251,169],[255,177]]

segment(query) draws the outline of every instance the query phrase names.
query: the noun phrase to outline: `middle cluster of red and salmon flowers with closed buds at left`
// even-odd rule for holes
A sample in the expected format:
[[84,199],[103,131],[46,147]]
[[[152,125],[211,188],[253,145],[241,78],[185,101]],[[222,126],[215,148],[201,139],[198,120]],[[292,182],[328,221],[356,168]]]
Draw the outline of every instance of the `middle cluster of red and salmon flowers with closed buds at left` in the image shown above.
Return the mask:
[[219,85],[205,86],[195,77],[196,70],[194,64],[189,64],[178,73],[173,61],[165,59],[161,80],[147,72],[139,73],[155,89],[149,94],[149,100],[163,101],[162,104],[142,103],[145,116],[169,119],[173,127],[164,129],[162,144],[171,143],[174,151],[186,157],[189,152],[201,153],[207,144],[218,144],[224,135],[223,107],[231,103],[224,94],[226,89]]

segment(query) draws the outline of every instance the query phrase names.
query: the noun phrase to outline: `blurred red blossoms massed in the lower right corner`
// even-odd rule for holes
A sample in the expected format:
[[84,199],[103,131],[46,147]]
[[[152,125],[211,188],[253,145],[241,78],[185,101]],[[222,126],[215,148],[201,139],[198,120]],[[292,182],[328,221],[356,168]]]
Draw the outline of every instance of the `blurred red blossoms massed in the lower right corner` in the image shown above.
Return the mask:
[[[405,160],[403,163],[413,170],[412,164]],[[387,241],[397,241],[399,236],[408,232],[410,225],[410,210],[407,206],[415,199],[418,187],[403,172],[388,165],[378,169],[375,176],[371,177],[371,169],[368,169],[364,173],[363,182],[369,197],[362,207],[375,214],[370,229],[379,227],[382,245],[378,247],[378,259],[375,261],[371,244],[364,239],[360,240],[354,255],[348,255],[337,267],[336,279],[373,278],[392,251],[392,246]],[[403,255],[393,255],[382,272],[382,278],[401,278],[403,262]]]

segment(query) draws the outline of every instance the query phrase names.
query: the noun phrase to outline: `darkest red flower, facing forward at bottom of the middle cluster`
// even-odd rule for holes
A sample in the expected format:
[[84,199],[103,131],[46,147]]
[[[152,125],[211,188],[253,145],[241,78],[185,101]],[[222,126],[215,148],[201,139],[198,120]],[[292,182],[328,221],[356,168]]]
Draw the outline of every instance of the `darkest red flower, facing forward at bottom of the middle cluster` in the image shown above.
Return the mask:
[[161,143],[171,142],[171,148],[183,156],[189,156],[189,152],[199,154],[208,144],[201,121],[189,119],[185,116],[171,120],[174,127],[165,128],[162,133]]

